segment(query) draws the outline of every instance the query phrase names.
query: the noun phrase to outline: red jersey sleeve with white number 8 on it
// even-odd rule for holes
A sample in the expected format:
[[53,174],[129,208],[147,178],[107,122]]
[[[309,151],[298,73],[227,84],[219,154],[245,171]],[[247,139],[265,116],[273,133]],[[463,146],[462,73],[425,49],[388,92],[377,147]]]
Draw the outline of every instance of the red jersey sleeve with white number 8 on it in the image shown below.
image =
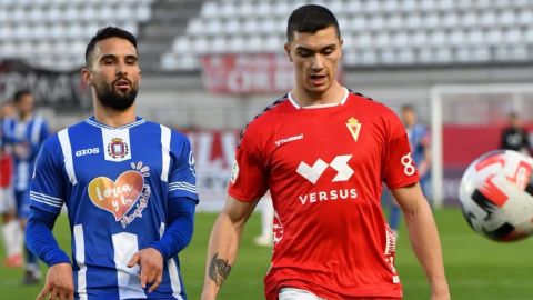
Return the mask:
[[395,113],[385,119],[388,138],[385,144],[384,181],[390,189],[403,188],[420,180],[409,146],[405,129]]

